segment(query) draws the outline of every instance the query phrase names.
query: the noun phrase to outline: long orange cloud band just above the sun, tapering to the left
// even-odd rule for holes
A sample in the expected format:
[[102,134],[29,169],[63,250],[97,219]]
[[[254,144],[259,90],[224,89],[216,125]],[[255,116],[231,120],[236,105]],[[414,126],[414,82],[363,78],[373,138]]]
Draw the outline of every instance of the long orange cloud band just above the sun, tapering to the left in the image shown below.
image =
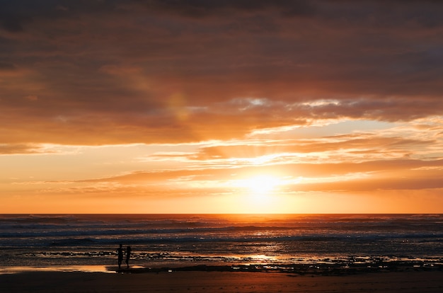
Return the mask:
[[[79,182],[117,182],[122,184],[143,184],[163,183],[170,184],[172,181],[228,181],[236,180],[238,178],[248,178],[253,174],[275,174],[281,177],[292,176],[294,178],[335,178],[333,180],[336,185],[342,186],[342,189],[347,189],[350,182],[355,182],[355,185],[360,182],[360,178],[351,176],[352,174],[367,174],[367,179],[362,182],[379,182],[380,185],[374,185],[373,188],[383,188],[383,182],[386,179],[388,182],[394,180],[395,182],[405,182],[409,179],[412,182],[426,182],[426,178],[430,180],[437,180],[443,170],[443,161],[422,161],[412,159],[402,160],[379,160],[366,161],[363,163],[280,163],[270,165],[257,166],[236,166],[224,165],[216,167],[217,165],[210,165],[204,168],[186,168],[174,170],[158,170],[158,171],[137,171],[121,176],[113,176],[109,178],[98,178],[90,180],[81,180]],[[340,177],[339,177],[340,176]],[[403,178],[401,178],[403,177]],[[416,181],[418,180],[418,181]],[[328,181],[328,180],[327,180]],[[322,179],[311,185],[331,185],[332,183],[322,183]],[[383,183],[383,184],[382,184]],[[310,185],[309,185],[310,186]],[[352,185],[353,186],[353,185]],[[379,186],[379,187],[377,187]],[[353,187],[355,188],[355,187]],[[431,188],[431,187],[430,187]]]

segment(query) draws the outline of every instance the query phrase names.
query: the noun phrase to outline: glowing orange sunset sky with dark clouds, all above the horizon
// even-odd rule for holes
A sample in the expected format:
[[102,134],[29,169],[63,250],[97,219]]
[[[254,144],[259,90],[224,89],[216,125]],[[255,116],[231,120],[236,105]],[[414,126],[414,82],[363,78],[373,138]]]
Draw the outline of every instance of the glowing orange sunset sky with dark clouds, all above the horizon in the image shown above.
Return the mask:
[[443,213],[442,15],[0,0],[0,213]]

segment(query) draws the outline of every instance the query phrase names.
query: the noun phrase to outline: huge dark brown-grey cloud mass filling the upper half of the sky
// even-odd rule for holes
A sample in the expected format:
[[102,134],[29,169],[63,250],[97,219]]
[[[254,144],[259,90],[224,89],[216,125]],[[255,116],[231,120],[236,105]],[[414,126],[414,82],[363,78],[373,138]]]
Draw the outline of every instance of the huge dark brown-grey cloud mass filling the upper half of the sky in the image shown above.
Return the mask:
[[1,139],[180,142],[439,115],[442,13],[435,1],[0,1]]

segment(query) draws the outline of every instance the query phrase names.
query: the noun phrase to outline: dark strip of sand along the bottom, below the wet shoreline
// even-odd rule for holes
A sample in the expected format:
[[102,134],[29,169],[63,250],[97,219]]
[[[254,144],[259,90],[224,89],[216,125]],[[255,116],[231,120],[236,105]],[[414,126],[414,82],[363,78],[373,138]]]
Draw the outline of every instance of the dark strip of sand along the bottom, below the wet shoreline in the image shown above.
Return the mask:
[[296,275],[282,272],[22,272],[1,292],[443,292],[442,271]]

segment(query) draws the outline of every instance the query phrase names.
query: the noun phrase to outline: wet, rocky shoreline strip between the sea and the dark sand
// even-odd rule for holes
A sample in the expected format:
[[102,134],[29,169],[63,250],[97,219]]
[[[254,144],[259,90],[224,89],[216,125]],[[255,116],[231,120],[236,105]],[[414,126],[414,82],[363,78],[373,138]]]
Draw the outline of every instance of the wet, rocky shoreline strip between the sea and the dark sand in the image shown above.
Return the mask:
[[47,265],[47,266],[0,266],[0,275],[21,272],[105,272],[122,274],[141,274],[150,272],[276,272],[297,275],[356,275],[375,272],[443,272],[441,261],[425,260],[379,260],[375,263],[251,263],[251,264],[209,264],[193,265],[130,265],[130,268],[117,265]]

